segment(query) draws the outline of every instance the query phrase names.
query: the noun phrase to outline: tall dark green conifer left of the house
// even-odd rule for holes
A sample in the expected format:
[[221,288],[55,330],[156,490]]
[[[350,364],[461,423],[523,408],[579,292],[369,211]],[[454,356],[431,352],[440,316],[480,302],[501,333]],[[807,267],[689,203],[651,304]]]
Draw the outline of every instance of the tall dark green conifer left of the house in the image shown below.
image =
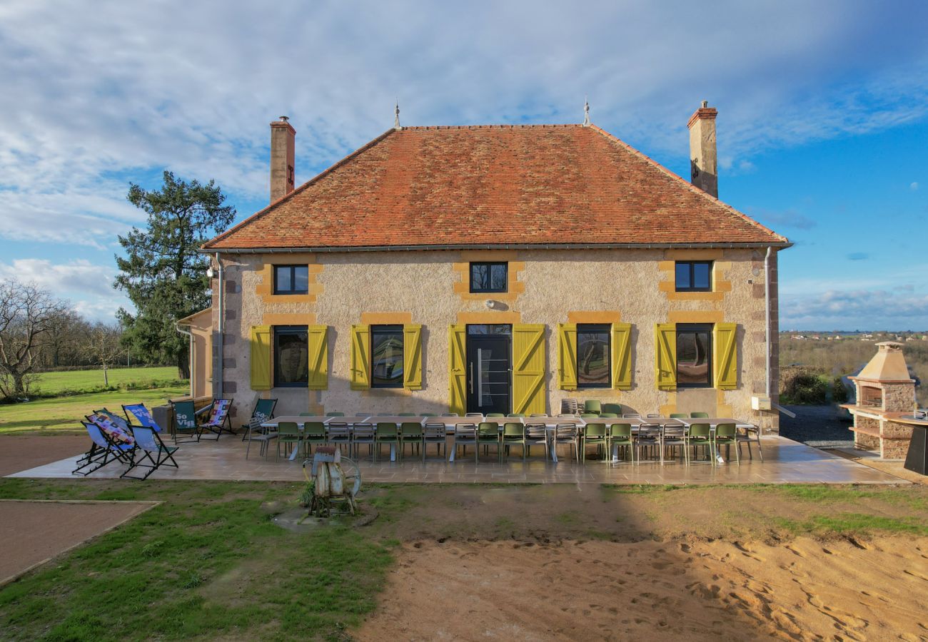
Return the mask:
[[123,340],[144,360],[176,364],[186,379],[187,338],[174,324],[209,307],[209,258],[200,246],[226,231],[235,208],[223,205],[226,196],[215,181],[187,183],[171,172],[157,190],[130,184],[127,198],[148,214],[148,225],[119,237],[125,256],[116,255],[121,274],[113,287],[135,305],[134,315],[119,311]]

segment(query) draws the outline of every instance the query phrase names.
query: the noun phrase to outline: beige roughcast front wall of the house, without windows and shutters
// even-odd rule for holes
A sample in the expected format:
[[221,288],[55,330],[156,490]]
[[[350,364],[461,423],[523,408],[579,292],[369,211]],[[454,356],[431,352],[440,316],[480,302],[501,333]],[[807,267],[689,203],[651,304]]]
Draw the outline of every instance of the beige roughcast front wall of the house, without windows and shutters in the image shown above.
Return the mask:
[[[674,261],[714,261],[714,291],[676,292]],[[509,292],[472,294],[468,263],[509,263]],[[314,254],[222,255],[224,266],[223,392],[235,398],[238,417],[251,411],[252,326],[324,325],[328,329],[327,390],[275,388],[277,414],[331,410],[441,413],[448,409],[450,324],[543,324],[546,330],[548,411],[561,399],[595,398],[642,414],[707,411],[754,421],[777,432],[776,413],[751,409],[765,395],[764,250],[406,250]],[[310,266],[310,291],[275,296],[272,264]],[[776,252],[771,257],[773,366],[776,367]],[[213,291],[220,284],[213,282]],[[213,327],[218,301],[213,297]],[[486,302],[493,301],[493,309]],[[559,390],[559,323],[631,324],[632,387]],[[659,391],[655,385],[654,327],[658,323],[735,323],[738,384],[734,390]],[[352,390],[350,336],[354,324],[413,323],[422,327],[422,389]],[[213,344],[216,341],[213,340]],[[214,364],[218,360],[214,360]],[[213,378],[216,379],[216,378]],[[773,381],[777,380],[776,372]],[[776,402],[776,392],[773,400]]]

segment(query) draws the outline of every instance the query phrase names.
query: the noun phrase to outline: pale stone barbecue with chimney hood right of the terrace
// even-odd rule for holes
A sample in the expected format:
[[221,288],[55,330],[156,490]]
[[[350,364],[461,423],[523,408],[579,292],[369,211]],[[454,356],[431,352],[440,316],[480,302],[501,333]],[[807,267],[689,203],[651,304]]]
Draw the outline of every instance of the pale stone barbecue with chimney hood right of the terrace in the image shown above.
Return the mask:
[[915,380],[902,354],[902,344],[877,343],[878,352],[857,377],[857,404],[844,404],[854,416],[854,446],[879,450],[884,459],[906,456],[911,426],[898,419],[915,407]]

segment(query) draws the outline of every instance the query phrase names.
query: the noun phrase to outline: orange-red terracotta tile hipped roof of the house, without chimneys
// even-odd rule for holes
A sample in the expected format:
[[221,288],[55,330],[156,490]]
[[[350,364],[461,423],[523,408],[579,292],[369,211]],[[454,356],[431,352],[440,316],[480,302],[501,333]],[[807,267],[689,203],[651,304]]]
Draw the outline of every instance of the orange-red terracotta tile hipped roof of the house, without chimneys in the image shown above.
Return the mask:
[[208,250],[788,243],[596,126],[406,127]]

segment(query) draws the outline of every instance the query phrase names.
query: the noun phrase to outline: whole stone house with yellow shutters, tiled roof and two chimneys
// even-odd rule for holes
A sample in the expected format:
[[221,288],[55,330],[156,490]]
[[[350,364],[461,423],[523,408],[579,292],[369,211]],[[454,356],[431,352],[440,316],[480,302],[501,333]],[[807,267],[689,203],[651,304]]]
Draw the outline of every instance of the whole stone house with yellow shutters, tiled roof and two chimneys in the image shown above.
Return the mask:
[[690,118],[691,183],[588,122],[397,119],[295,187],[295,131],[272,122],[271,204],[202,248],[212,337],[194,353],[212,371],[195,388],[238,417],[256,395],[278,415],[574,397],[778,430],[752,398],[776,404],[791,244],[716,198],[715,117]]

